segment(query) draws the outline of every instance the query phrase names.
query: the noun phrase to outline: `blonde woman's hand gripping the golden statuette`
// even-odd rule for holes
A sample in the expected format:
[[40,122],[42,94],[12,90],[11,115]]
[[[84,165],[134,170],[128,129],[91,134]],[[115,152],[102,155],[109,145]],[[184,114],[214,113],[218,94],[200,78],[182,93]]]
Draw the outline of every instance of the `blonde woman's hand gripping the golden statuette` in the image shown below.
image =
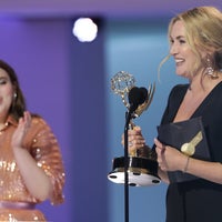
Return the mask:
[[[124,148],[124,133],[122,134],[121,144]],[[128,131],[128,150],[129,153],[135,153],[135,151],[145,145],[145,140],[142,135],[141,128],[135,125],[132,130]]]

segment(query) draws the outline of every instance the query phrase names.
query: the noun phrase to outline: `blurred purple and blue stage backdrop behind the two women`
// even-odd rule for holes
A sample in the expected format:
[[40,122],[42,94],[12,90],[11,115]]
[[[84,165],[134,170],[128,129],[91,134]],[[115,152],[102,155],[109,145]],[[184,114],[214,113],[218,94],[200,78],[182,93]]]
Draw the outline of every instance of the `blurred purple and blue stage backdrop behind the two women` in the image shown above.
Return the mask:
[[[49,221],[124,221],[123,185],[107,179],[112,159],[123,155],[125,113],[110,79],[124,70],[138,87],[155,82],[151,107],[135,120],[152,144],[170,88],[182,81],[172,61],[158,81],[159,62],[168,53],[167,23],[104,20],[94,42],[80,43],[71,33],[72,19],[0,19],[0,58],[18,72],[28,109],[49,122],[61,144],[65,202],[39,206]],[[164,221],[164,184],[131,188],[130,222]]]

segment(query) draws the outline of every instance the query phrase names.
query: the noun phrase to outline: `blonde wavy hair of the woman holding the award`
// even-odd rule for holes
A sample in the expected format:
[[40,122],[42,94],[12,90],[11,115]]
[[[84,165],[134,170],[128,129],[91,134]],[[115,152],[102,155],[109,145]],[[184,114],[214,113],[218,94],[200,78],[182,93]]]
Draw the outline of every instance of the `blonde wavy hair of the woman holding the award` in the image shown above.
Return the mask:
[[[191,50],[196,56],[192,73],[199,69],[205,58],[201,57],[201,52],[206,52],[208,58],[215,71],[222,71],[222,12],[214,7],[198,7],[185,12],[179,13],[172,18],[169,23],[168,37],[172,27],[176,21],[182,21],[185,28],[185,39]],[[212,49],[214,53],[212,53]],[[171,56],[168,54],[159,65],[159,74],[162,64],[168,61]]]

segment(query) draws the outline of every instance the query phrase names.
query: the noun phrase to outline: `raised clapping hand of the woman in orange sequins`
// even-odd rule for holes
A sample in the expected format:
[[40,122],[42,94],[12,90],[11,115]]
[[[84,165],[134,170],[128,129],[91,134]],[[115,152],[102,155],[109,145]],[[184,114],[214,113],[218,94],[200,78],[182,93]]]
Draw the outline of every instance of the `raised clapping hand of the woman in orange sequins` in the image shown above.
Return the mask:
[[11,145],[13,149],[22,148],[23,138],[31,124],[31,114],[26,111],[23,117],[19,119],[18,127],[12,135]]

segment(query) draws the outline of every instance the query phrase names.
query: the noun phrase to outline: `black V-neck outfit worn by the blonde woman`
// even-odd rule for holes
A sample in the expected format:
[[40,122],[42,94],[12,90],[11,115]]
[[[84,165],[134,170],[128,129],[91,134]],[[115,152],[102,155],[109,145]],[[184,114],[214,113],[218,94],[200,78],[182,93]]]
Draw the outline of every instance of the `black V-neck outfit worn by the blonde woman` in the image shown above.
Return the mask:
[[[188,84],[179,84],[172,89],[161,124],[173,122],[188,88]],[[196,117],[202,117],[211,161],[222,163],[222,82],[210,92],[191,118]],[[169,184],[167,222],[221,221],[221,184],[203,179]]]

